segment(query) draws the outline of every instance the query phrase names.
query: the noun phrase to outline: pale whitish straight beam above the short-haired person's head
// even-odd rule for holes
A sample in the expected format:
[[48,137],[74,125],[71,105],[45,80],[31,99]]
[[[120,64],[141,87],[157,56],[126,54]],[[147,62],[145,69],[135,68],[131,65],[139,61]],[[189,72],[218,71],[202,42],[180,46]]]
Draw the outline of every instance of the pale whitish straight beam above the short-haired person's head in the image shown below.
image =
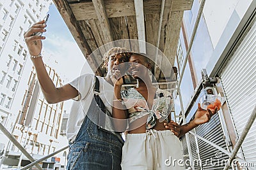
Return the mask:
[[146,53],[146,36],[145,36],[145,22],[143,12],[143,0],[134,0],[136,24],[138,30],[138,40],[140,52]]

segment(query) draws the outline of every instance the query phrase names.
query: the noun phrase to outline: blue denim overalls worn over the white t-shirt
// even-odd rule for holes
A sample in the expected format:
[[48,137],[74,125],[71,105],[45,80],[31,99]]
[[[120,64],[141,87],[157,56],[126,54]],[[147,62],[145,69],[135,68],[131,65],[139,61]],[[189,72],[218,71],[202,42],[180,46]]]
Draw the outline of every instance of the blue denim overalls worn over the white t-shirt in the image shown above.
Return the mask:
[[[99,80],[96,76],[95,80],[94,90],[99,92]],[[93,123],[95,120],[99,121],[97,119],[100,111],[106,111],[106,108],[99,95],[94,94],[74,143],[69,143],[68,170],[121,170],[124,141]]]

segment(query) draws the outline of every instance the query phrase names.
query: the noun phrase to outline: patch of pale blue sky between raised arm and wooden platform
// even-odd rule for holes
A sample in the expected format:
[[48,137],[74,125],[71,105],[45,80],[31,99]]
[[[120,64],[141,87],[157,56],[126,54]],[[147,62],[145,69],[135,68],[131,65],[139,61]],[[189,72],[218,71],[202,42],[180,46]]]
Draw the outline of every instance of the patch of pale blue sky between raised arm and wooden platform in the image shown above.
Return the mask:
[[[54,4],[50,6],[49,14],[43,41],[44,62],[60,74],[63,83],[68,83],[79,76],[87,62]],[[86,67],[88,73],[92,73],[90,66]]]

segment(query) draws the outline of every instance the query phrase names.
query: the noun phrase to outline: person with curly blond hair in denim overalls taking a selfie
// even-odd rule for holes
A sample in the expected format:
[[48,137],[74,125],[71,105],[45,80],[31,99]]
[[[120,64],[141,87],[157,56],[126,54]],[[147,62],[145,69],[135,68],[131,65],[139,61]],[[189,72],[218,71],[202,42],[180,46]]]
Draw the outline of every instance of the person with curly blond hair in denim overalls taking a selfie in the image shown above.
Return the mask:
[[45,27],[44,20],[37,22],[25,32],[24,38],[46,101],[52,104],[74,99],[67,122],[67,169],[121,169],[124,140],[120,133],[100,127],[99,119],[104,122],[102,118],[107,120],[106,115],[111,116],[114,84],[111,76],[118,64],[129,59],[128,50],[114,47],[106,52],[104,67],[108,73],[104,78],[84,74],[66,85],[55,87],[42,60],[42,39],[45,37],[35,34],[45,32]]

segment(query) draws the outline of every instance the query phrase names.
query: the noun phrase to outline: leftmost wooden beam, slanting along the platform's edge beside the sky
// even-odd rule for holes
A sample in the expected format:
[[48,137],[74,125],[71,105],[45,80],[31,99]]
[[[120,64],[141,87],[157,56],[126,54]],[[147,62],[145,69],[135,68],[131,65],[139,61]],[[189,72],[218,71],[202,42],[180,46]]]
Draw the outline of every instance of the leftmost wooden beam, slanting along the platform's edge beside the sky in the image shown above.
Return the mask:
[[77,42],[77,45],[81,49],[81,51],[84,54],[84,57],[86,58],[88,64],[92,67],[92,70],[95,71],[95,74],[102,76],[102,73],[97,69],[97,65],[94,60],[90,59],[88,57],[90,53],[92,53],[92,50],[90,46],[88,45],[88,42],[86,41],[86,38],[84,38],[84,34],[81,31],[81,27],[77,23],[76,17],[74,16],[74,13],[70,9],[70,6],[68,5],[67,1],[65,0],[53,0],[54,4],[58,8],[58,11],[60,12],[61,17],[65,21],[68,29],[70,30],[72,36]]

